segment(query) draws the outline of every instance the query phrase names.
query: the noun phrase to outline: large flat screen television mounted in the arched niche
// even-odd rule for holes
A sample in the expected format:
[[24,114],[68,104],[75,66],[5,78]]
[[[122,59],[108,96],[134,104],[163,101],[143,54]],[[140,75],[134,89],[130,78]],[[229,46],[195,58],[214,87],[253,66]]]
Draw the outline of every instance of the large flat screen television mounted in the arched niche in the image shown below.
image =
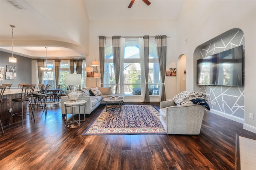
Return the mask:
[[243,46],[197,60],[197,84],[243,85]]

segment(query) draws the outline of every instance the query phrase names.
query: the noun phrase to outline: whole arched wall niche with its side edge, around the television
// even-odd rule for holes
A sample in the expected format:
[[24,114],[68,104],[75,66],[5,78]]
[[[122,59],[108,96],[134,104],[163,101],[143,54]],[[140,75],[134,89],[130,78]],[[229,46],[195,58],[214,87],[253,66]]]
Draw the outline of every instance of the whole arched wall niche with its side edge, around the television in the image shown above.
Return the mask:
[[[196,60],[234,47],[243,45],[245,51],[244,32],[239,28],[230,29],[225,33],[199,45],[194,51],[194,82],[196,83]],[[243,66],[244,80],[244,66]],[[244,83],[243,86],[200,86],[200,92],[207,94],[211,112],[225,115],[240,123],[244,123]],[[216,102],[216,106],[212,104]],[[224,104],[224,107],[222,107]]]

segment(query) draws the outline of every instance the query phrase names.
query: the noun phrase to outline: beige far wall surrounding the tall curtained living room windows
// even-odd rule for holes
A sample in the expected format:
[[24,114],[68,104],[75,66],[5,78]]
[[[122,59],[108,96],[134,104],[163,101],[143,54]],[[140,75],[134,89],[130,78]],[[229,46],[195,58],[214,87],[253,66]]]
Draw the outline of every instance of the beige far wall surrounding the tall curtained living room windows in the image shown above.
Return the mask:
[[[90,20],[90,55],[86,56],[86,65],[96,58],[99,60],[98,36],[155,36],[169,35],[167,38],[166,68],[176,68],[176,20]],[[99,68],[98,68],[99,71]],[[86,86],[95,86],[96,78],[86,79]],[[176,77],[165,80],[166,99],[176,95]]]

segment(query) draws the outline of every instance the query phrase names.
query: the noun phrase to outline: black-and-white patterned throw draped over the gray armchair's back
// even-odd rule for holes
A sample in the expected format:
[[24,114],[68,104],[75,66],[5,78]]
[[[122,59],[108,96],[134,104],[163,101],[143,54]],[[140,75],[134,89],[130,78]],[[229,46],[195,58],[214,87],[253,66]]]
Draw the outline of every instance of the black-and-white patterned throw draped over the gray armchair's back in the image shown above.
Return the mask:
[[181,105],[190,102],[192,99],[205,99],[206,102],[208,101],[208,97],[206,94],[192,91],[180,92],[179,94],[174,96],[172,100],[175,102],[176,105]]

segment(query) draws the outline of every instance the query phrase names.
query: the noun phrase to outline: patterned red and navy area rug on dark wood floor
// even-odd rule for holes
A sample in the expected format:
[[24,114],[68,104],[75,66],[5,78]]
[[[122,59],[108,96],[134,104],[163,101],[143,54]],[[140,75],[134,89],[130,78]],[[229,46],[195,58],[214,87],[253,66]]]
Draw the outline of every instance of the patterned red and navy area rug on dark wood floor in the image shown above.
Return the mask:
[[[108,106],[115,107],[115,106]],[[83,135],[166,134],[159,112],[151,105],[123,105],[122,111],[106,107]]]

